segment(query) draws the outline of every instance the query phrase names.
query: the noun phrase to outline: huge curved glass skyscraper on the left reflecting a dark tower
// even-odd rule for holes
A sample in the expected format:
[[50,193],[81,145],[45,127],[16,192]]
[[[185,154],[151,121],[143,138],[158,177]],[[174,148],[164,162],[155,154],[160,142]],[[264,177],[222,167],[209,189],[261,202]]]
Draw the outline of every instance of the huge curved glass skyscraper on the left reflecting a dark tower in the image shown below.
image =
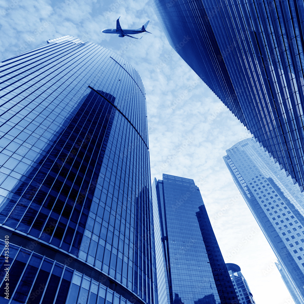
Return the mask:
[[71,36],[0,72],[0,302],[157,303],[138,73]]

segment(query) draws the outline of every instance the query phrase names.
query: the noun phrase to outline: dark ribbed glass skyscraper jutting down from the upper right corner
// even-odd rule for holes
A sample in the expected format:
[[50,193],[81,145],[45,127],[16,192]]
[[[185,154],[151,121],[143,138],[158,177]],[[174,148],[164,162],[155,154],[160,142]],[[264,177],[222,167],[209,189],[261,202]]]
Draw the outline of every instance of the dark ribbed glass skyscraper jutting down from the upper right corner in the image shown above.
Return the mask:
[[304,191],[303,1],[155,0],[171,46]]

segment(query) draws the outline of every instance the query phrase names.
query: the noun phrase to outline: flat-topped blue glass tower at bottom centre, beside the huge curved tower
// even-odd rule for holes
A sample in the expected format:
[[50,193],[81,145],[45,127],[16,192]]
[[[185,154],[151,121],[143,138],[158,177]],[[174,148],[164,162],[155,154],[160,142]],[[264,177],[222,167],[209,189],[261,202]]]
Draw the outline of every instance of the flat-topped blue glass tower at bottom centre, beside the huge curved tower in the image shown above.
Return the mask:
[[152,197],[159,303],[239,303],[194,181],[163,174]]

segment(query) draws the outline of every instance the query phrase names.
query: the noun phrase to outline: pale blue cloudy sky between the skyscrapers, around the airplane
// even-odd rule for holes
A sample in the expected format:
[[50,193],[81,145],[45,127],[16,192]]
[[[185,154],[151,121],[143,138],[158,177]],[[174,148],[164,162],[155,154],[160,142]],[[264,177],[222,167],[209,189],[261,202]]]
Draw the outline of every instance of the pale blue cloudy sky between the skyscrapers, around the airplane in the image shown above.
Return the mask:
[[[152,34],[136,40],[101,32],[116,27],[119,16],[123,28],[150,20]],[[171,48],[150,1],[0,0],[0,33],[0,60],[71,35],[132,64],[146,89],[151,179],[163,173],[192,178],[225,262],[240,266],[255,302],[294,303],[223,161],[226,149],[251,134]]]

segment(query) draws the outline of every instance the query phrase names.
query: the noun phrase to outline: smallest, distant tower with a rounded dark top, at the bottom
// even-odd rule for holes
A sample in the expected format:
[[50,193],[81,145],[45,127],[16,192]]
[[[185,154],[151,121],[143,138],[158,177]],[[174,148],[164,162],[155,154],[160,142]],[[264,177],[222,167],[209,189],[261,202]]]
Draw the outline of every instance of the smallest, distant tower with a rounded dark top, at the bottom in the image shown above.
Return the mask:
[[255,304],[248,283],[241,273],[240,266],[232,263],[227,263],[226,266],[240,304]]

